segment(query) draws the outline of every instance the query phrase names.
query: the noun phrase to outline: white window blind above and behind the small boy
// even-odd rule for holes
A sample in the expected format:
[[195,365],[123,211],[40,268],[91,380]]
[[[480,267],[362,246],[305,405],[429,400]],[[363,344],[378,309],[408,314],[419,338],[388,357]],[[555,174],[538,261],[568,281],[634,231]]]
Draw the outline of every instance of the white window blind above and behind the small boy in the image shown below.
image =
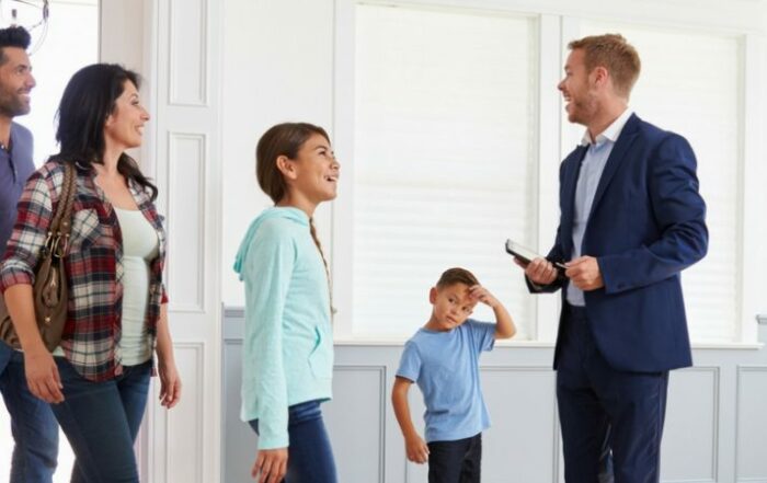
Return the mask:
[[[353,334],[408,337],[462,266],[530,336],[534,298],[503,243],[536,220],[536,22],[355,8]],[[478,307],[476,318],[493,320]]]

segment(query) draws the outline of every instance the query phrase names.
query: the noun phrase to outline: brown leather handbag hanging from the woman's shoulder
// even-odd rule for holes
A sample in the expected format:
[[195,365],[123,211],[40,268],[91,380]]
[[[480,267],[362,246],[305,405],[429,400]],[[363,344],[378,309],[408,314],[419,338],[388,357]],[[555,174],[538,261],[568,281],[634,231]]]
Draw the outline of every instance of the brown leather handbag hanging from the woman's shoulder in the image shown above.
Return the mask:
[[[56,212],[48,227],[45,245],[41,249],[39,261],[35,269],[33,298],[37,327],[45,347],[53,352],[61,342],[61,332],[67,322],[67,302],[69,288],[64,257],[69,249],[72,204],[77,195],[77,176],[72,163],[64,163],[64,184]],[[19,335],[13,329],[11,315],[2,297],[0,297],[0,338],[13,348],[21,348]]]

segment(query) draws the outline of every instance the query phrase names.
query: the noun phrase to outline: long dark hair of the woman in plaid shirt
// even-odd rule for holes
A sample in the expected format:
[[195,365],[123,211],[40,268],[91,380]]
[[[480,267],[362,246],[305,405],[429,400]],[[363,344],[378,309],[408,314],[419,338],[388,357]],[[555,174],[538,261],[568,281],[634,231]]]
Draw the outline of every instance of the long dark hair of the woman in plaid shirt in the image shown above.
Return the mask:
[[[59,152],[49,160],[87,164],[101,164],[104,156],[104,125],[115,110],[117,97],[126,82],[139,87],[139,76],[116,64],[93,64],[78,70],[64,90],[56,117],[56,140]],[[138,183],[157,198],[157,186],[141,173],[136,160],[126,153],[119,156],[117,171]]]

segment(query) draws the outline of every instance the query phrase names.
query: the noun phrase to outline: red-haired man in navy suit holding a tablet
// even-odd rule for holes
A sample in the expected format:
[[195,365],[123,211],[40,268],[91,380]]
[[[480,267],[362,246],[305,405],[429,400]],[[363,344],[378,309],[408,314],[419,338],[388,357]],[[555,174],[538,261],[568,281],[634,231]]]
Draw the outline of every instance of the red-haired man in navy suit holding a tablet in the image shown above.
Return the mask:
[[615,482],[659,482],[668,370],[692,364],[679,278],[706,255],[706,205],[689,143],[628,107],[634,48],[620,35],[569,47],[558,88],[568,119],[586,131],[560,166],[554,246],[517,263],[531,291],[562,288],[554,369],[565,481],[597,482],[609,430]]

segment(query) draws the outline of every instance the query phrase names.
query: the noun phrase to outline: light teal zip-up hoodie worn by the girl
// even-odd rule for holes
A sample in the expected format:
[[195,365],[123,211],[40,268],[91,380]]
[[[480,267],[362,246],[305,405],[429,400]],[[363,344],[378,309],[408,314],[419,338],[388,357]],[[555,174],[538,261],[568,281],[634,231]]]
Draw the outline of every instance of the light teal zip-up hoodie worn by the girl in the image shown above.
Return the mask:
[[329,400],[333,373],[328,277],[297,208],[264,210],[234,262],[245,283],[240,417],[259,419],[259,449],[288,446],[288,406]]

